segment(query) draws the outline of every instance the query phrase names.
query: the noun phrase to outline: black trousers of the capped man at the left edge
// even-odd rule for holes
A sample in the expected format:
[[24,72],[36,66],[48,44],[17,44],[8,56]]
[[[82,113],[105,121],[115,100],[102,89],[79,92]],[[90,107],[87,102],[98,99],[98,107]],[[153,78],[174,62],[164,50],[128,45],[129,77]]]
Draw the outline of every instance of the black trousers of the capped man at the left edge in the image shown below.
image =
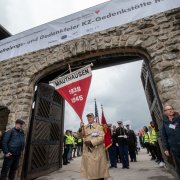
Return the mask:
[[9,177],[9,180],[14,180],[19,164],[19,158],[20,156],[15,155],[4,157],[0,180],[6,180],[7,176]]

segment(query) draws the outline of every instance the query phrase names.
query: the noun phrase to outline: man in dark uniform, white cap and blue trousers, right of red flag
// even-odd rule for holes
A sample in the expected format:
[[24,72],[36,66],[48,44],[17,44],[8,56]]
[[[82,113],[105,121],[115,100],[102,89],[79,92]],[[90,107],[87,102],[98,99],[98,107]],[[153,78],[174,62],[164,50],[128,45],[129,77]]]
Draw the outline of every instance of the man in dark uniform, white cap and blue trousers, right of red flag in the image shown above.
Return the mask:
[[129,157],[128,157],[128,133],[127,130],[123,127],[123,122],[117,122],[119,127],[116,129],[116,139],[119,146],[119,152],[121,154],[121,160],[123,169],[129,169]]

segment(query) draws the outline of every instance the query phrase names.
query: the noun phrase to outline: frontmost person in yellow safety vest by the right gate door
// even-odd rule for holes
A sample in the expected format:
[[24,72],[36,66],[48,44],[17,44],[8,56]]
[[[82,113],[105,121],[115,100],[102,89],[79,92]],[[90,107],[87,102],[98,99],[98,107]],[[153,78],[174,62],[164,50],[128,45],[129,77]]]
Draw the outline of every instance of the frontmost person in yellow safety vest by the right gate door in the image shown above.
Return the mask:
[[164,160],[162,158],[161,150],[158,143],[158,134],[157,134],[157,126],[155,126],[155,123],[153,121],[150,122],[151,126],[151,146],[152,150],[156,156],[156,162],[159,164],[160,167],[164,167]]

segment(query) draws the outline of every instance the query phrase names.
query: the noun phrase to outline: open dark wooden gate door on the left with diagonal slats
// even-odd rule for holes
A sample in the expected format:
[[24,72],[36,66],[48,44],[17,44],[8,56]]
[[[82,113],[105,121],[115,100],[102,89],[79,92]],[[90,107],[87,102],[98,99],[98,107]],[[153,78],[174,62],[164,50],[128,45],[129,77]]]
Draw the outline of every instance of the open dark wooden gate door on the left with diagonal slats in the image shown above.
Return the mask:
[[35,94],[25,179],[33,179],[62,167],[64,100],[48,84],[39,84]]

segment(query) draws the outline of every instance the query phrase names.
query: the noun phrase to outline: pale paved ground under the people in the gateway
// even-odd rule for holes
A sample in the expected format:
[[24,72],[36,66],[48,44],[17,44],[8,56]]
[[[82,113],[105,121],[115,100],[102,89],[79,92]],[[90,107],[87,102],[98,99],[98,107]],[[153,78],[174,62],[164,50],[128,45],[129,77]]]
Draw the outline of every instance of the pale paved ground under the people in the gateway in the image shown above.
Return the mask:
[[[80,177],[81,158],[75,158],[59,171],[37,180],[84,180]],[[110,169],[111,177],[108,180],[177,180],[166,168],[160,168],[155,162],[150,161],[150,156],[142,150],[138,155],[138,162],[130,163],[130,169]]]

